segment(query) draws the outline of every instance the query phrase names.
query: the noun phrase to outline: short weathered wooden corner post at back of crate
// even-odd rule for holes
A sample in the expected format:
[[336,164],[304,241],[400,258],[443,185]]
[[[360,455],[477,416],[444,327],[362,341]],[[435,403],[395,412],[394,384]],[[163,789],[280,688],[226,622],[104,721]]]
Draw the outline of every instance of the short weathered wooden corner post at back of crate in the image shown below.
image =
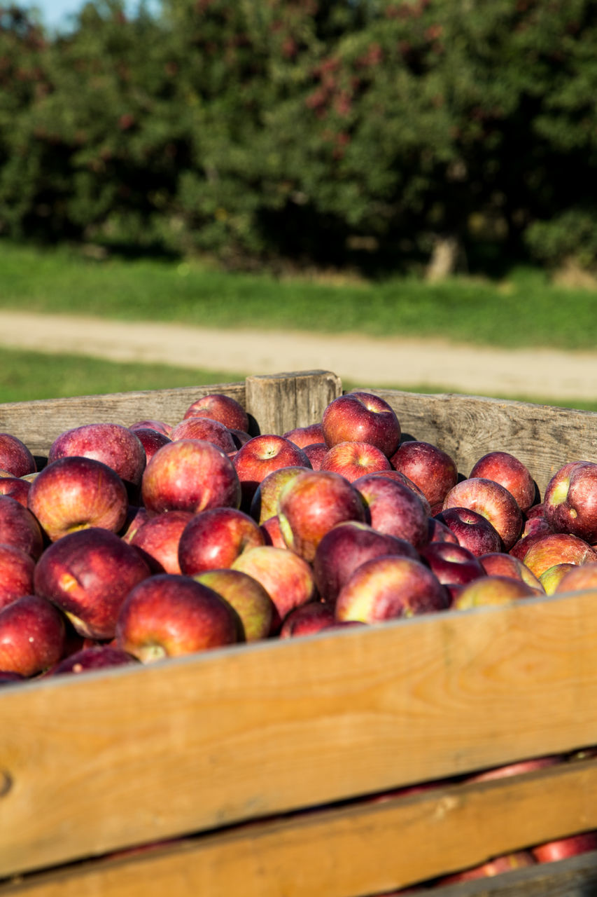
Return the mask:
[[342,395],[342,381],[330,370],[247,377],[247,411],[263,433],[282,435],[321,420],[326,405]]

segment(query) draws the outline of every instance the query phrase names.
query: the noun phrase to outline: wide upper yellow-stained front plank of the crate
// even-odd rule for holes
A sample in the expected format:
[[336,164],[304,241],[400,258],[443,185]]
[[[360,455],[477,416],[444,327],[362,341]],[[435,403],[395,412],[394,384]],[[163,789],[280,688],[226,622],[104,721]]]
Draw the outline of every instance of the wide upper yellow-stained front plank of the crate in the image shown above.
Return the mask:
[[0,875],[597,744],[595,601],[4,686]]

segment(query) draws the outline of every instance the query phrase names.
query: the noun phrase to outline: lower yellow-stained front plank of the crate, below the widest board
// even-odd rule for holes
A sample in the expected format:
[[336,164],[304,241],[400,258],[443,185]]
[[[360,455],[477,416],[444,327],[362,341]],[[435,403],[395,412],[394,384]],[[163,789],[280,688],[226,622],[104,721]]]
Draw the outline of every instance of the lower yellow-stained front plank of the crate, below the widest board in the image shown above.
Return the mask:
[[[510,779],[434,788],[187,838],[31,876],[0,887],[0,895],[159,897],[170,890],[177,897],[360,897],[594,826],[597,762],[568,762]],[[593,865],[597,874],[594,858]],[[514,883],[544,885],[554,872],[549,866],[525,869]],[[514,884],[511,876],[500,878],[497,893],[514,893],[503,891],[508,878]],[[569,885],[569,873],[566,880]],[[434,893],[479,894],[486,886],[446,886]]]

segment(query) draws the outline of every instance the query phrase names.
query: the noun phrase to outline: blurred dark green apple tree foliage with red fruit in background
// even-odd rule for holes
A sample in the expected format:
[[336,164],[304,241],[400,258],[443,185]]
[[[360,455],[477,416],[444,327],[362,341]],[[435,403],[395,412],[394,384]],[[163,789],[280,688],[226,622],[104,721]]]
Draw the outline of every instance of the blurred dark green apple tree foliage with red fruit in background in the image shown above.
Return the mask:
[[597,266],[591,0],[0,9],[0,232],[390,266]]

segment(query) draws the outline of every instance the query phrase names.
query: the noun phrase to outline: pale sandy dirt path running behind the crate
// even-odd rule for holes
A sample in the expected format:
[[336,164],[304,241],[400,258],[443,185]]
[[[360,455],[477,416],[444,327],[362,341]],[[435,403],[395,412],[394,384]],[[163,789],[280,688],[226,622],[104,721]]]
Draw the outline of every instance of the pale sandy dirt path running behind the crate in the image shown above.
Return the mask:
[[597,397],[597,351],[497,350],[359,335],[211,330],[176,324],[0,312],[0,345],[112,361],[269,374],[321,368],[363,386],[476,395]]

